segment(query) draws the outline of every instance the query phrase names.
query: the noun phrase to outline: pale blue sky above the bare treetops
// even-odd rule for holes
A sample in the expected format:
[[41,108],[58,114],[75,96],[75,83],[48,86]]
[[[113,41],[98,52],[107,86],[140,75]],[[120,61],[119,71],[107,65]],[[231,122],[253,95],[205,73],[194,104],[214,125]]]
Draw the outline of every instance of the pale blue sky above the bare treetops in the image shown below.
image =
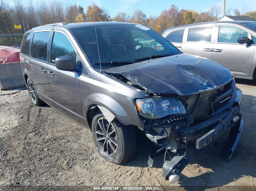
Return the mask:
[[[26,1],[26,0],[24,0]],[[36,0],[34,0],[36,2]],[[81,5],[86,12],[87,6],[93,1],[99,7],[104,7],[109,11],[111,17],[115,16],[118,11],[125,11],[132,14],[135,9],[143,10],[147,16],[158,16],[163,9],[168,9],[172,4],[178,6],[179,9],[194,9],[195,11],[207,11],[211,5],[220,5],[222,0],[62,0],[68,4]],[[7,0],[13,3],[13,0]],[[226,0],[226,9],[238,8],[243,12],[243,7],[247,11],[256,11],[256,0]],[[232,13],[233,14],[233,13]]]

